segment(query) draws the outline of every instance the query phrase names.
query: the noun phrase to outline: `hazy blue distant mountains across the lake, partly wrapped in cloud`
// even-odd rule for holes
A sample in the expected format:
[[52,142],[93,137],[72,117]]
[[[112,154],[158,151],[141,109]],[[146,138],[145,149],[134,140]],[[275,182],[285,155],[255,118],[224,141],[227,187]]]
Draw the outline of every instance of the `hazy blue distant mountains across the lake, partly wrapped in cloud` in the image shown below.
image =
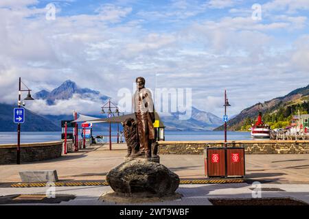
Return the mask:
[[[75,82],[67,80],[58,88],[52,91],[41,90],[34,94],[34,99],[43,99],[48,105],[56,105],[57,100],[71,99],[74,94],[78,94],[80,99],[87,99],[91,101],[100,101],[104,103],[108,96],[100,94],[99,91],[91,90],[89,88],[80,88]],[[98,104],[102,104],[98,103]],[[0,131],[16,131],[16,125],[12,123],[13,106],[0,103],[0,125],[9,124],[5,129]],[[73,119],[71,115],[38,115],[30,110],[26,110],[26,123],[23,125],[23,131],[60,131],[61,120]],[[102,118],[102,114],[88,115]],[[192,107],[192,118],[189,120],[179,120],[179,114],[174,113],[171,116],[161,116],[161,120],[165,125],[166,130],[181,130],[181,131],[210,131],[218,125],[222,124],[222,120],[218,116],[209,112],[203,112]],[[34,125],[31,125],[34,124]],[[48,124],[48,125],[46,125]],[[113,125],[115,130],[116,125]],[[95,125],[93,131],[107,131],[108,126],[100,124]]]

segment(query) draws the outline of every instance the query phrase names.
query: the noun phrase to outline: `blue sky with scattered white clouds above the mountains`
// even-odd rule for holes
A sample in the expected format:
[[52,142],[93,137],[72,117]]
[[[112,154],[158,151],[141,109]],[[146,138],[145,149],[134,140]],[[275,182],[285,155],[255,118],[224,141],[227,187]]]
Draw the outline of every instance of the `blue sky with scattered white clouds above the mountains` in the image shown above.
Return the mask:
[[[141,76],[192,89],[192,105],[217,116],[226,89],[235,115],[308,85],[308,16],[309,0],[0,0],[0,103],[16,103],[19,77],[33,93],[71,79],[117,103]],[[41,114],[100,106],[27,103]]]

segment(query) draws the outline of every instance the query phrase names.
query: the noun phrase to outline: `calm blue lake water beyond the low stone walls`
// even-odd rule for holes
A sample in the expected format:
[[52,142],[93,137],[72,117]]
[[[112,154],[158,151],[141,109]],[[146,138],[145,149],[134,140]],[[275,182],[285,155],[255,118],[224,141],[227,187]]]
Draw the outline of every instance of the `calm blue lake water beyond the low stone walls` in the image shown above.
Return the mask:
[[[105,135],[103,141],[108,142],[108,133],[93,131],[93,136]],[[117,133],[112,133],[117,136]],[[21,132],[21,143],[58,141],[61,133],[58,131],[44,132]],[[81,139],[79,135],[78,138]],[[190,140],[224,140],[224,131],[165,131],[166,141],[190,141]],[[250,132],[228,131],[227,140],[251,140]],[[112,142],[117,138],[113,137]],[[16,144],[17,132],[0,132],[0,144]]]

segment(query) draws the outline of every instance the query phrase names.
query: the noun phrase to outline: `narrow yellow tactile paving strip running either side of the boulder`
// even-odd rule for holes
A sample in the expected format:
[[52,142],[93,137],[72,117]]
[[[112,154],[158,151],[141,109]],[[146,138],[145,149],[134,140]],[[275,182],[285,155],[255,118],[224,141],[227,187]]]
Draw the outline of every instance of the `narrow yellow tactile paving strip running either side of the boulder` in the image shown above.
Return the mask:
[[[211,184],[211,183],[243,183],[244,179],[205,179],[205,180],[181,180],[180,184]],[[91,185],[108,185],[107,182],[92,181],[92,182],[67,182],[54,183],[55,186],[91,186]],[[31,188],[31,187],[45,187],[51,186],[46,183],[14,183],[11,184],[13,188]]]

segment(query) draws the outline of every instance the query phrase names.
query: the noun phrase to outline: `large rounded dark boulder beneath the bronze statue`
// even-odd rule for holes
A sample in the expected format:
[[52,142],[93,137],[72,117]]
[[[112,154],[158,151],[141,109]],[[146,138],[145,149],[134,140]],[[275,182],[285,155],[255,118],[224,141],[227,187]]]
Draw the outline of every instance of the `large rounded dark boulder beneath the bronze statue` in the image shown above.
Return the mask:
[[116,193],[131,197],[171,196],[179,187],[178,175],[145,159],[120,164],[108,172],[106,181]]

